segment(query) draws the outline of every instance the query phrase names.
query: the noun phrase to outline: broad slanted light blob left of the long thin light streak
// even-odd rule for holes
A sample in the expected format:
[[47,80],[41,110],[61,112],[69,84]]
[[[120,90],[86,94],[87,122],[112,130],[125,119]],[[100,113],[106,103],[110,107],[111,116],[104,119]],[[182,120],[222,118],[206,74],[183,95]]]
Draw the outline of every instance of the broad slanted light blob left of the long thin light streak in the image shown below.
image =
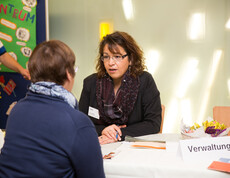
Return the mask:
[[191,58],[188,60],[186,66],[183,68],[180,82],[178,88],[176,89],[176,96],[178,98],[183,98],[186,94],[189,84],[194,80],[197,74],[198,60],[196,58]]

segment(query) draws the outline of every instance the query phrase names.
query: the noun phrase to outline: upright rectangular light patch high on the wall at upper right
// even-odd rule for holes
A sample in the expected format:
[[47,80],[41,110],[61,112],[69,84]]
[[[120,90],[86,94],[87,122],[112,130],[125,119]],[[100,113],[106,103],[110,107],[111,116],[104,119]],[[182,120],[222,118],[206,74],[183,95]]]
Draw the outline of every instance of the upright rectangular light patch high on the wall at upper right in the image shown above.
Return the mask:
[[191,40],[203,39],[205,36],[205,14],[194,13],[189,25],[189,38]]

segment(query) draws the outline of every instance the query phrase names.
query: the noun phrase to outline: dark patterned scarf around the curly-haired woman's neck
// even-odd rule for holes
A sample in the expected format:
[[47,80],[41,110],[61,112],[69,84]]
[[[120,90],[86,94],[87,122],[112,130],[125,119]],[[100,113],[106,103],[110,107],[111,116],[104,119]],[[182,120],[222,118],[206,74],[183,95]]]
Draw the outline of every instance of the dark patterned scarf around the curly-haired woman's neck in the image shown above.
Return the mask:
[[127,124],[133,111],[140,86],[139,77],[132,77],[127,71],[121,86],[114,94],[113,80],[108,75],[97,79],[96,97],[100,119],[106,124]]

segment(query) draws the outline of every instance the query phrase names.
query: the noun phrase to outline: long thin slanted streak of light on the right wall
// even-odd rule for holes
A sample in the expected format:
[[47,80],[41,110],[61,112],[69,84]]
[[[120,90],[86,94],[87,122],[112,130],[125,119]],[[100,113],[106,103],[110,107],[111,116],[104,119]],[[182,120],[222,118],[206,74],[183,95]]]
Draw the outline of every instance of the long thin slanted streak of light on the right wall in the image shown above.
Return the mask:
[[212,89],[212,84],[216,76],[216,71],[218,69],[221,56],[222,56],[222,50],[216,50],[213,54],[212,68],[210,70],[207,88],[205,90],[204,98],[202,100],[201,109],[200,109],[200,113],[199,113],[198,120],[197,120],[199,124],[201,124],[203,120],[205,119],[204,114],[207,109],[208,100],[209,100],[210,92]]

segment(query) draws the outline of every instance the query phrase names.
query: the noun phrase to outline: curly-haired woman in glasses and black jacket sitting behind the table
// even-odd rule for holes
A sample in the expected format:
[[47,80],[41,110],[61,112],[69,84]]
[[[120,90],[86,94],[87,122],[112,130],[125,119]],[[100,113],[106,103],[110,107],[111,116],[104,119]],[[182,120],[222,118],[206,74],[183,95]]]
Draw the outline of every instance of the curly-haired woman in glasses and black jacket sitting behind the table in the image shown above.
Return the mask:
[[79,109],[93,121],[101,144],[160,131],[160,92],[144,71],[143,51],[125,32],[99,45],[97,73],[84,79]]

